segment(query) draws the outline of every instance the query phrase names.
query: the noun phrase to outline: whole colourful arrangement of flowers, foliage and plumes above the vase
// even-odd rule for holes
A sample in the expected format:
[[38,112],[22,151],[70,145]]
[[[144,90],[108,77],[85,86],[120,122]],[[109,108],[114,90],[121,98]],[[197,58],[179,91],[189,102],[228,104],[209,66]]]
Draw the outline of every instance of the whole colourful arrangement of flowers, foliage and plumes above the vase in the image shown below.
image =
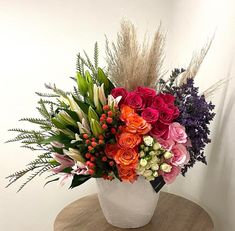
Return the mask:
[[161,74],[164,39],[159,28],[152,45],[140,47],[135,27],[124,21],[113,49],[106,41],[108,69],[98,66],[96,43],[94,63],[86,53],[78,55],[73,91],[47,84],[52,93],[37,93],[42,118],[22,120],[39,130],[11,129],[19,134],[10,141],[42,154],[8,176],[8,186],[32,172],[21,190],[50,172],[47,183],[70,180],[71,188],[92,177],[133,183],[143,176],[159,191],[196,161],[206,163],[208,125],[215,115],[206,93],[213,87],[199,94],[193,79],[210,43],[187,69],[166,77]]

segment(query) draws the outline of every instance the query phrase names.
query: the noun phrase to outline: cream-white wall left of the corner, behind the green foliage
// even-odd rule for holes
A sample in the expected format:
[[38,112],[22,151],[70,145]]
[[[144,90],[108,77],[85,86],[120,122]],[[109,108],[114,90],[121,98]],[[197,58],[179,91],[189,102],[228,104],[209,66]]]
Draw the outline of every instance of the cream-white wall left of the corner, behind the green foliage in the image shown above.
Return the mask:
[[[93,50],[98,41],[104,50],[104,33],[115,38],[123,16],[133,20],[140,34],[157,28],[162,20],[169,27],[168,1],[58,1],[0,0],[0,230],[48,231],[57,213],[68,203],[95,192],[93,181],[74,190],[55,184],[43,188],[38,178],[16,194],[17,186],[5,189],[5,176],[35,157],[20,144],[3,144],[12,138],[18,119],[35,116],[38,98],[46,82],[72,89],[68,78],[75,73],[76,53]],[[102,60],[103,52],[100,52]],[[102,61],[104,64],[104,62]]]

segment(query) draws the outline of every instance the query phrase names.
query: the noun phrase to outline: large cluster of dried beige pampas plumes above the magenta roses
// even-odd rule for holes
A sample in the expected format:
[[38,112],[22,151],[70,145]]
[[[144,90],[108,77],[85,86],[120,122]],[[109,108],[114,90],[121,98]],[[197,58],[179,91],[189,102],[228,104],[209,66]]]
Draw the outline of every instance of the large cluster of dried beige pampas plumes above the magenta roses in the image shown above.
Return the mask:
[[142,45],[138,43],[135,26],[123,20],[117,42],[112,43],[112,48],[106,39],[106,60],[111,80],[116,86],[128,90],[137,86],[154,87],[161,76],[164,44],[165,35],[160,26],[149,47],[145,40]]

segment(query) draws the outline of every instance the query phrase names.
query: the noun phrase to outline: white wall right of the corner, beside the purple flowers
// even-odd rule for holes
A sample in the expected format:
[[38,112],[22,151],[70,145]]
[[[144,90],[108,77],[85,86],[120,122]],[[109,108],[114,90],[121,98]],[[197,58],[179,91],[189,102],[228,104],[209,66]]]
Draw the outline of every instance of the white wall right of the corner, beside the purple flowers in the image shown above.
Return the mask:
[[[172,1],[173,2],[173,1]],[[212,98],[217,105],[212,143],[206,149],[208,166],[196,164],[169,191],[203,206],[212,216],[215,231],[235,230],[235,2],[178,0],[173,2],[170,63],[186,64],[215,29],[213,45],[202,65],[197,83],[206,89],[221,78],[233,79]]]

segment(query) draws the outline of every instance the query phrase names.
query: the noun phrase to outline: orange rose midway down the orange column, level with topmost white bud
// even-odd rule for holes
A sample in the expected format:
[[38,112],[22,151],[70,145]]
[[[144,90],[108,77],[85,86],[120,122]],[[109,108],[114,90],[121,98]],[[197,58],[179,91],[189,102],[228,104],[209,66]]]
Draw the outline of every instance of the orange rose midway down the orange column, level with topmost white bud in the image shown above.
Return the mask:
[[123,132],[118,137],[118,144],[122,148],[134,148],[141,142],[141,137],[138,134]]

